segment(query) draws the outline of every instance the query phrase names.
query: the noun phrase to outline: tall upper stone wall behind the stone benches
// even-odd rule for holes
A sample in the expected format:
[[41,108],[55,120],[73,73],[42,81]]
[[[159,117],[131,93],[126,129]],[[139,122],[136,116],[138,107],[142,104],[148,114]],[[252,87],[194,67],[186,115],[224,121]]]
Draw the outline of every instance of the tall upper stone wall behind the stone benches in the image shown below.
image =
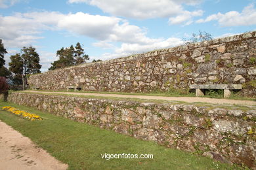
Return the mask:
[[[189,84],[243,84],[256,95],[256,32],[32,75],[41,90],[186,91]],[[254,81],[253,81],[254,80]]]

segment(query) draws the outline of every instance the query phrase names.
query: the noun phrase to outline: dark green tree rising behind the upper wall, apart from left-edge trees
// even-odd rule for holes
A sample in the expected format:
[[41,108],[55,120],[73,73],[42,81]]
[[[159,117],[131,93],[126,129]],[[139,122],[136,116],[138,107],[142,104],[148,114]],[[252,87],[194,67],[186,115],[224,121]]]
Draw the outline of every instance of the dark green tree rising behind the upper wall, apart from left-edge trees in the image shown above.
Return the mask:
[[86,63],[89,60],[89,56],[84,54],[81,44],[77,42],[75,48],[71,45],[69,48],[61,48],[56,52],[58,60],[51,63],[49,70],[60,69],[64,67],[70,67],[73,65],[79,65]]

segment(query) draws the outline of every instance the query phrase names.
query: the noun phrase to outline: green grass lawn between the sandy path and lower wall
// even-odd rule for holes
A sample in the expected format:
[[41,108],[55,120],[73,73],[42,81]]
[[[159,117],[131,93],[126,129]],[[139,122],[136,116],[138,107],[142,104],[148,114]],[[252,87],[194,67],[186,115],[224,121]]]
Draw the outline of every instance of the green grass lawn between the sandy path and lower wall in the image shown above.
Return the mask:
[[[44,120],[28,121],[5,110],[0,120],[6,122],[34,143],[44,148],[69,169],[240,169],[189,152],[140,141],[114,131],[74,122],[47,112],[0,102],[38,114]],[[153,154],[153,159],[102,159],[101,154]]]

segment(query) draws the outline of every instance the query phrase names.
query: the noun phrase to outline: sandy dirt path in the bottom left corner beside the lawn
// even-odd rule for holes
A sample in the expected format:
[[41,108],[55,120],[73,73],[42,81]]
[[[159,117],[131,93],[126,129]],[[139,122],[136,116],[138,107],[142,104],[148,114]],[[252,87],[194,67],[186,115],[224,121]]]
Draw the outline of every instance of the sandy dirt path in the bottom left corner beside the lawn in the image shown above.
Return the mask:
[[35,146],[28,137],[0,121],[0,169],[55,170],[67,169],[42,148]]

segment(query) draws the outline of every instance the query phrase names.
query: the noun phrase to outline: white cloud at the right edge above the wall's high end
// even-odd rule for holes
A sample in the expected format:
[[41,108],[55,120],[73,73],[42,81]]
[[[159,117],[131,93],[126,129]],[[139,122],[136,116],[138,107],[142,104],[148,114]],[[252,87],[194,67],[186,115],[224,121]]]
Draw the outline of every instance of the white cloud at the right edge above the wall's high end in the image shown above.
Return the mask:
[[221,12],[208,16],[207,18],[197,20],[197,23],[210,22],[217,20],[221,26],[232,27],[242,25],[255,25],[256,24],[256,9],[251,4],[245,7],[242,12],[230,11],[222,14]]

